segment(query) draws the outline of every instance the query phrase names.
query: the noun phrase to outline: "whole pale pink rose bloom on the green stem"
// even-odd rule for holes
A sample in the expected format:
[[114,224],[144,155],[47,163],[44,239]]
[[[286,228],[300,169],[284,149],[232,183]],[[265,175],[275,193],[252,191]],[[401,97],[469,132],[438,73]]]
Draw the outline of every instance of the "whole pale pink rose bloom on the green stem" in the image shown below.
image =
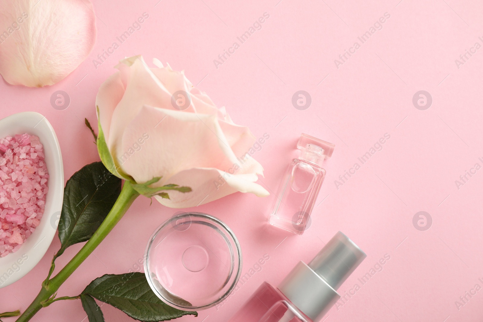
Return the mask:
[[[183,71],[157,59],[149,68],[141,56],[128,57],[99,89],[99,125],[114,167],[137,183],[162,177],[151,187],[187,186],[191,192],[168,191],[157,198],[172,208],[204,204],[235,192],[268,196],[255,183],[262,166],[252,158],[257,141],[250,129],[232,122],[225,108],[193,87]],[[180,111],[172,99],[189,93]],[[103,160],[104,161],[104,160]],[[106,160],[113,167],[111,159]]]

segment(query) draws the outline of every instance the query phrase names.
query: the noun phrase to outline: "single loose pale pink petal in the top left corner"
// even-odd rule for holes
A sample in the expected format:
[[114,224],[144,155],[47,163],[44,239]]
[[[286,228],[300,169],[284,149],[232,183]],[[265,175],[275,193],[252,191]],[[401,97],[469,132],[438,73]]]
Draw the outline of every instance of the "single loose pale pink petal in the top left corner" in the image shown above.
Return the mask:
[[10,84],[56,84],[94,46],[89,0],[1,0],[0,12],[0,74]]

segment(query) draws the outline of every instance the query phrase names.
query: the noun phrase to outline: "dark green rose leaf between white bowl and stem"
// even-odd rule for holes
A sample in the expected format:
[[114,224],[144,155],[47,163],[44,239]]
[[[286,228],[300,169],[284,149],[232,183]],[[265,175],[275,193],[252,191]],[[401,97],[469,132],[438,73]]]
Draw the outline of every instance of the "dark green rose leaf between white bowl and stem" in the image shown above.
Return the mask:
[[113,208],[121,192],[121,179],[102,162],[86,165],[74,173],[64,189],[58,225],[60,256],[69,246],[89,240]]

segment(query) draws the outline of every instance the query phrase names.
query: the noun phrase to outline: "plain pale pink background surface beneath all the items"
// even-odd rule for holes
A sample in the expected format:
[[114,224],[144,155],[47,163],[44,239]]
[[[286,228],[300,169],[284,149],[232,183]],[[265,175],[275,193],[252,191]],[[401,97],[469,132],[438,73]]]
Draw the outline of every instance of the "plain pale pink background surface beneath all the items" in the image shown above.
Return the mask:
[[[178,321],[227,321],[263,280],[277,285],[298,260],[310,261],[338,230],[368,254],[340,293],[359,283],[357,278],[384,254],[390,260],[369,282],[359,284],[361,289],[347,303],[332,308],[327,322],[481,320],[482,290],[459,310],[455,305],[475,284],[483,286],[478,280],[483,280],[483,170],[459,189],[455,184],[475,163],[483,165],[478,160],[483,157],[483,49],[459,69],[455,64],[475,42],[483,44],[478,39],[483,36],[481,3],[278,1],[228,5],[220,0],[95,0],[98,37],[90,56],[54,86],[36,89],[1,81],[0,117],[21,111],[45,115],[57,131],[67,180],[85,164],[99,160],[84,117],[95,123],[99,85],[114,73],[119,59],[137,54],[147,62],[157,57],[173,69],[184,69],[193,84],[218,106],[226,106],[235,123],[249,126],[257,138],[270,135],[253,155],[265,168],[259,182],[270,192],[276,193],[290,159],[298,155],[300,133],[336,144],[326,163],[327,177],[312,226],[303,236],[266,224],[273,193],[267,198],[237,193],[190,209],[213,214],[233,228],[242,247],[243,273],[264,254],[270,260],[223,306]],[[92,60],[144,12],[149,18],[142,28],[96,69]],[[270,18],[261,30],[217,69],[213,59],[265,12]],[[354,42],[360,44],[357,37],[386,12],[390,18],[382,30],[337,68],[334,59]],[[71,97],[64,111],[50,105],[57,90]],[[291,103],[298,90],[312,97],[307,110]],[[412,104],[420,90],[433,98],[425,111]],[[390,139],[383,150],[361,165],[357,158],[385,133]],[[361,168],[338,189],[334,181],[356,162]],[[138,198],[58,295],[77,295],[103,274],[132,269],[142,258],[153,227],[176,211]],[[429,230],[413,226],[418,211],[431,215]],[[57,267],[81,246],[69,248]],[[25,309],[58,248],[56,237],[39,265],[0,290],[0,311]],[[106,321],[132,321],[109,305],[102,310]],[[85,316],[80,301],[62,301],[43,308],[32,321],[81,322]]]

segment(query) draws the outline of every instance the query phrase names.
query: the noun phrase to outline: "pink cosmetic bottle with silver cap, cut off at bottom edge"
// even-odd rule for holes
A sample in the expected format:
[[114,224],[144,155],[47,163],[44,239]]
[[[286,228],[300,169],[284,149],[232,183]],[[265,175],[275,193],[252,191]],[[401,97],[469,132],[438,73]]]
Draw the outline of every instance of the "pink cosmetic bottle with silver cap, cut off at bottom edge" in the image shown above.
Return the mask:
[[229,322],[320,322],[341,298],[336,290],[364,258],[338,232],[309,265],[298,262],[278,288],[264,282]]

